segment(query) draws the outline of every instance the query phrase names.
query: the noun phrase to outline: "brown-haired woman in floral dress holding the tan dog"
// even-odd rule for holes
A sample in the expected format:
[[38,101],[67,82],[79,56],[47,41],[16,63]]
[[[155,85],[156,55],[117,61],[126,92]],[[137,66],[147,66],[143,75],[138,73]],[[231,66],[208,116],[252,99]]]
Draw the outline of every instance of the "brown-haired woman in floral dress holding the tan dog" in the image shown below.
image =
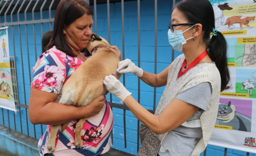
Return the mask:
[[[101,95],[84,107],[60,104],[61,88],[86,61],[81,51],[92,35],[93,12],[83,0],[62,0],[56,9],[55,23],[46,52],[32,69],[29,117],[32,124],[46,124],[39,140],[40,155],[86,155],[106,153],[112,146],[113,113],[105,96]],[[120,53],[119,53],[120,54]],[[81,138],[82,148],[74,143],[76,123],[85,121]],[[63,132],[57,132],[55,149],[47,147],[51,125],[69,123]]]

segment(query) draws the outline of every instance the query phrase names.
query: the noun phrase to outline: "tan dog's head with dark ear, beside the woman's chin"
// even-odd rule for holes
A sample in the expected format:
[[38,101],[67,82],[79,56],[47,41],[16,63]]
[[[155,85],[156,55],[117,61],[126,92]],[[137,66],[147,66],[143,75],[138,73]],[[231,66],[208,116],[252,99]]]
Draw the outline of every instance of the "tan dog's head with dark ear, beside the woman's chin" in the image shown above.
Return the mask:
[[97,46],[110,47],[110,44],[103,37],[97,36],[95,33],[92,33],[89,38],[89,43],[86,47],[85,53],[92,54],[94,47]]

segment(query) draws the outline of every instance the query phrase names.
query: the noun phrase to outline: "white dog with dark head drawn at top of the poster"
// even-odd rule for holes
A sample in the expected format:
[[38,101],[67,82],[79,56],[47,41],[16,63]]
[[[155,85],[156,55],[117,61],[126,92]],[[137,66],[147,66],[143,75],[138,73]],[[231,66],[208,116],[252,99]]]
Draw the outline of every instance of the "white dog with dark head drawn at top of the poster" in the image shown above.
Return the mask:
[[215,16],[215,27],[218,28],[218,20],[221,19],[221,25],[224,26],[224,10],[232,10],[233,8],[228,5],[228,3],[224,3],[223,5],[218,5],[217,9],[214,10]]

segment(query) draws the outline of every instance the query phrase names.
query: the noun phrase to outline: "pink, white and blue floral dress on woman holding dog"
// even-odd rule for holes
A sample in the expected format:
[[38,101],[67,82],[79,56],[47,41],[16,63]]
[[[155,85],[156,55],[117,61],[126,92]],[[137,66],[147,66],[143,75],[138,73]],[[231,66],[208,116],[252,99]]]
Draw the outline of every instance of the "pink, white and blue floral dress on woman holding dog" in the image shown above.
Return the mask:
[[[85,57],[86,58],[86,57]],[[37,90],[58,94],[55,102],[59,102],[61,96],[61,88],[69,78],[69,76],[83,62],[76,57],[71,57],[56,49],[55,47],[44,52],[38,58],[32,71],[34,78],[31,87]],[[112,147],[112,128],[113,113],[109,104],[105,101],[105,105],[98,115],[89,117],[85,121],[81,130],[81,138],[84,141],[82,149],[74,144],[76,123],[79,120],[70,121],[64,132],[61,129],[56,136],[56,146],[53,155],[71,156],[86,155],[97,156],[106,153]],[[51,125],[47,125],[46,132],[38,142],[38,150],[40,155],[48,153],[47,144],[49,134],[51,133]]]

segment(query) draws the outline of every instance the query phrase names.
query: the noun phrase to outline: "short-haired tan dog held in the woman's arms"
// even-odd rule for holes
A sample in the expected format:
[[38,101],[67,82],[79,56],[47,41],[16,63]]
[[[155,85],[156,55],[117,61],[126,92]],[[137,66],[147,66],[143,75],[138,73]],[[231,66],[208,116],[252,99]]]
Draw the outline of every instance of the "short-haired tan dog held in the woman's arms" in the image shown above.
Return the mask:
[[[118,54],[109,49],[110,44],[108,41],[95,35],[90,36],[87,50],[92,57],[89,57],[79,68],[69,77],[63,86],[62,95],[59,103],[73,105],[73,106],[86,106],[93,99],[98,98],[104,94],[106,87],[103,80],[107,75],[112,74],[117,70],[119,62]],[[121,74],[114,75],[117,79]],[[81,129],[85,120],[88,117],[79,120],[75,129],[75,145],[82,147]],[[62,132],[67,127],[68,123],[62,125]],[[52,125],[51,135],[47,149],[49,153],[55,151],[55,138],[60,128],[60,125]]]

